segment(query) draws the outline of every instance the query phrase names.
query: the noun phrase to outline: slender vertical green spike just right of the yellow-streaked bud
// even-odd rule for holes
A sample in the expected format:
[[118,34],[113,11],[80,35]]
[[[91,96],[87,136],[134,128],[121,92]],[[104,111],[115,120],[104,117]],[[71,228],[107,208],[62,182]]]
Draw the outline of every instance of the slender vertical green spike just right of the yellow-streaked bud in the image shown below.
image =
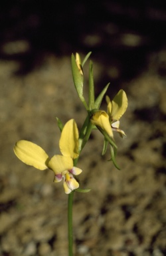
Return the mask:
[[90,61],[89,65],[89,109],[94,109],[94,74],[92,61]]

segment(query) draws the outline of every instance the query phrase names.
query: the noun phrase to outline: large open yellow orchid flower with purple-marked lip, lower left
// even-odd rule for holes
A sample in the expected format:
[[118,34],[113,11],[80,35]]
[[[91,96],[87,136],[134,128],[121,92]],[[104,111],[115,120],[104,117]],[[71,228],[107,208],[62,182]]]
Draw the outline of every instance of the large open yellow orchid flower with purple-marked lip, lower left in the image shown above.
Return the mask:
[[62,181],[64,192],[69,194],[79,187],[73,175],[79,175],[82,170],[74,167],[73,159],[78,157],[78,128],[74,119],[70,119],[62,129],[59,147],[62,155],[49,158],[44,149],[31,141],[18,141],[15,144],[15,155],[26,163],[39,170],[51,169],[54,171],[54,182]]

